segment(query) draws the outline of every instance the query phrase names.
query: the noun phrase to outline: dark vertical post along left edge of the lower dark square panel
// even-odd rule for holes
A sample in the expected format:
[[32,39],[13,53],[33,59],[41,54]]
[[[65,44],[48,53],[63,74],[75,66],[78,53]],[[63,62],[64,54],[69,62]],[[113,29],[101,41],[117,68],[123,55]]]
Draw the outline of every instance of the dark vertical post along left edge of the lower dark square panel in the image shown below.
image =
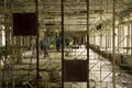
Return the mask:
[[64,88],[64,0],[61,0],[62,7],[62,88]]

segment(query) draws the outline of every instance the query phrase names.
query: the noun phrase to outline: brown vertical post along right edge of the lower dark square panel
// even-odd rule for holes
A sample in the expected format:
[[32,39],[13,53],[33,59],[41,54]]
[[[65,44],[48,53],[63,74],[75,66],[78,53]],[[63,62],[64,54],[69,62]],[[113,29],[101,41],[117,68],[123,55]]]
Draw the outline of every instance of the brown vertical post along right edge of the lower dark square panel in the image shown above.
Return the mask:
[[89,88],[89,0],[87,0],[87,75],[88,75],[88,79],[87,79],[87,88]]

